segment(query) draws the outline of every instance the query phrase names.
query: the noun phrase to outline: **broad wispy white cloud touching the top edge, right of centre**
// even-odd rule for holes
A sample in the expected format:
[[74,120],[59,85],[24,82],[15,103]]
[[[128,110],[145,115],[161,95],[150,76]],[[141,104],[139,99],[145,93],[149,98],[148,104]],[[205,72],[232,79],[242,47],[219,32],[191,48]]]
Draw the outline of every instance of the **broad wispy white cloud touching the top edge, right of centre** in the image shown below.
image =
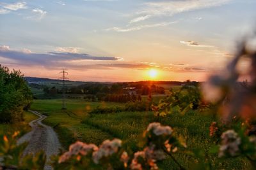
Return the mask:
[[[151,17],[172,16],[177,13],[186,11],[200,10],[203,8],[211,8],[213,6],[221,6],[232,0],[180,0],[180,1],[152,1],[144,4],[144,8],[137,12],[139,17],[133,20],[146,20]],[[143,18],[143,16],[148,16]],[[143,18],[143,19],[138,19]]]

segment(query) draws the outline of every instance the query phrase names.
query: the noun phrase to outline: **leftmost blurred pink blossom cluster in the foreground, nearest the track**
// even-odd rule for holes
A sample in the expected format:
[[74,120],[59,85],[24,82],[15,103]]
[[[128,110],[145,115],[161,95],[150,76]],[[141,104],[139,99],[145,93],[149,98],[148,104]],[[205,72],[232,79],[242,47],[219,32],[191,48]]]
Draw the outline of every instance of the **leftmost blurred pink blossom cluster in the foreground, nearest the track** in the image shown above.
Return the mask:
[[92,153],[98,150],[98,147],[94,144],[86,144],[81,141],[77,141],[76,143],[69,146],[68,152],[63,153],[61,157],[59,158],[59,163],[65,162],[73,155],[77,155],[79,158],[79,155],[87,155],[88,153]]

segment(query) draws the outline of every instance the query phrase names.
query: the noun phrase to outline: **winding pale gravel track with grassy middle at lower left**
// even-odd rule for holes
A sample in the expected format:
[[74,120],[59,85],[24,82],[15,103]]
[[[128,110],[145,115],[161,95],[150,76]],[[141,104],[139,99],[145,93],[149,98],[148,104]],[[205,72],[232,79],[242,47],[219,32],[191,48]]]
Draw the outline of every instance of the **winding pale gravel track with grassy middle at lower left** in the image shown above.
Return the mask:
[[[24,155],[44,150],[48,161],[52,155],[58,154],[61,148],[60,141],[52,127],[42,124],[42,120],[47,117],[38,113],[37,111],[31,112],[37,115],[39,118],[29,123],[29,125],[32,127],[32,130],[22,136],[18,140],[18,144],[28,141],[28,146],[24,150]],[[44,167],[44,169],[48,170],[52,169],[52,167],[47,165]]]

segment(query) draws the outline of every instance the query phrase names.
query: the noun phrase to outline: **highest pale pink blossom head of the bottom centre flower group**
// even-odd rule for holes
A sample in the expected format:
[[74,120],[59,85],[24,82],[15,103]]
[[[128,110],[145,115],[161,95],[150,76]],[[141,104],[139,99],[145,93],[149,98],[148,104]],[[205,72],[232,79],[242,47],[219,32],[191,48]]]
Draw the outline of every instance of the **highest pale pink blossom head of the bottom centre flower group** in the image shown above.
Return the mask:
[[153,122],[148,125],[147,131],[153,131],[156,136],[160,136],[162,134],[164,135],[170,135],[172,134],[172,128],[170,126],[162,126],[160,123]]

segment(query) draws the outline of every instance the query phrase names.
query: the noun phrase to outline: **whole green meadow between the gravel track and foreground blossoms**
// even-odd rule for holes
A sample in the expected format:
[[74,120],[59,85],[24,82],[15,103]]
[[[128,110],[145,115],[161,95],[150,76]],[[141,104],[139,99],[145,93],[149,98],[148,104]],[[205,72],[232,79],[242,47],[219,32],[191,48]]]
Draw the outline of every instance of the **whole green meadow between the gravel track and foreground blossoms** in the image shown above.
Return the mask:
[[[169,115],[164,118],[154,117],[151,111],[122,112],[102,115],[89,115],[88,111],[97,106],[120,106],[118,103],[93,103],[83,100],[68,100],[67,110],[61,110],[61,100],[35,100],[31,110],[37,110],[48,116],[45,124],[54,127],[65,149],[76,140],[99,145],[105,139],[120,138],[125,149],[132,153],[140,150],[143,131],[150,122],[161,122],[170,125],[180,138],[186,141],[189,150],[198,150],[198,154],[207,152],[214,143],[209,138],[209,126],[212,117],[198,111],[189,111],[186,115]],[[207,156],[207,155],[206,155]],[[205,158],[205,155],[201,155]],[[218,155],[209,156],[213,169],[249,169],[245,159],[226,159],[214,164]],[[191,162],[198,161],[191,153],[175,154],[175,158],[185,167],[193,167]],[[177,169],[172,159],[164,160],[161,169]]]

